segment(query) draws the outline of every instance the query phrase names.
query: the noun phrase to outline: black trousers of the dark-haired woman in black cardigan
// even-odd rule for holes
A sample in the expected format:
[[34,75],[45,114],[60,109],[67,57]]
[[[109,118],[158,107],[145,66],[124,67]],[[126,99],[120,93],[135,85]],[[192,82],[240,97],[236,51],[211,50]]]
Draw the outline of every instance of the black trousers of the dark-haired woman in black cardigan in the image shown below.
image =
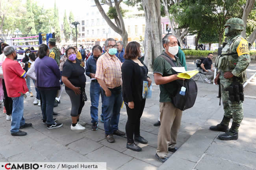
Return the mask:
[[140,123],[141,116],[145,107],[146,99],[142,99],[142,101],[134,101],[134,108],[130,109],[127,104],[126,111],[128,115],[128,119],[125,126],[127,143],[134,143],[134,137],[140,136]]

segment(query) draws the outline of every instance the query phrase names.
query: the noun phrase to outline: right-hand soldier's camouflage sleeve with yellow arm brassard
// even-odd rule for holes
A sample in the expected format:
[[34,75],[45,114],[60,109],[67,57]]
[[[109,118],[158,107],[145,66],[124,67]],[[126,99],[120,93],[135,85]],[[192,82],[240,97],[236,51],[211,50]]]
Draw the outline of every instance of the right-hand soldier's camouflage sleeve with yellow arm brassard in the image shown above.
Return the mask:
[[236,77],[240,77],[250,64],[250,53],[247,40],[241,38],[241,40],[234,42],[232,52],[237,52],[238,62],[234,63],[236,66],[231,73]]

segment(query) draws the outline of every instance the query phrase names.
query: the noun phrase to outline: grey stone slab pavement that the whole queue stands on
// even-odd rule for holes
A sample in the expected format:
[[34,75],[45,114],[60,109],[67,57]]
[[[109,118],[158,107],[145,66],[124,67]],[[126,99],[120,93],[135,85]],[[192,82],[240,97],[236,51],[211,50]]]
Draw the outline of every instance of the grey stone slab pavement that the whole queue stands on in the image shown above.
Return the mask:
[[[194,64],[187,63],[188,69],[195,69]],[[250,66],[256,72],[256,65]],[[153,79],[152,73],[149,76]],[[158,127],[153,123],[159,116],[159,87],[153,82],[152,99],[147,99],[141,117],[141,135],[149,142],[139,144],[142,152],[126,149],[126,138],[115,137],[115,143],[108,143],[104,135],[104,124],[99,122],[98,130],[91,130],[90,96],[87,77],[85,102],[80,120],[87,122],[82,132],[70,130],[71,103],[65,93],[61,96],[61,104],[54,108],[59,115],[58,122],[63,127],[48,130],[41,120],[41,110],[33,105],[34,97],[24,101],[24,117],[31,122],[31,128],[24,129],[28,135],[13,137],[10,135],[10,121],[0,109],[0,162],[107,162],[109,170],[210,170],[255,169],[256,114],[252,106],[255,99],[245,99],[245,118],[239,129],[237,141],[219,141],[218,132],[211,132],[208,127],[222,119],[223,106],[219,106],[218,86],[203,84],[197,81],[198,96],[193,108],[183,112],[182,124],[178,135],[179,150],[162,164],[156,159]],[[31,82],[31,84],[33,84]],[[32,86],[32,89],[33,86]],[[33,90],[35,94],[35,90]],[[255,91],[254,94],[256,96]],[[101,104],[99,113],[101,112]],[[99,114],[100,115],[100,114]],[[127,121],[126,109],[121,109],[119,129],[125,131]],[[253,126],[254,125],[254,126]],[[245,134],[245,132],[247,132]]]

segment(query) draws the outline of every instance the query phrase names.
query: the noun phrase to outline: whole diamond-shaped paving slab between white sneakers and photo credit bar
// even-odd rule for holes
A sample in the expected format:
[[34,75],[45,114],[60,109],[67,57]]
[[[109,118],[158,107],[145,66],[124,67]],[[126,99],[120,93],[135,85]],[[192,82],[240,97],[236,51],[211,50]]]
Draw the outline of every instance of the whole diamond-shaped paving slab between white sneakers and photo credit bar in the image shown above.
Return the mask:
[[72,150],[75,150],[76,152],[78,152],[81,155],[86,155],[90,152],[95,151],[96,149],[98,149],[102,146],[103,145],[101,145],[97,142],[91,141],[90,139],[83,138],[83,139],[80,139],[73,143],[70,143],[67,147]]

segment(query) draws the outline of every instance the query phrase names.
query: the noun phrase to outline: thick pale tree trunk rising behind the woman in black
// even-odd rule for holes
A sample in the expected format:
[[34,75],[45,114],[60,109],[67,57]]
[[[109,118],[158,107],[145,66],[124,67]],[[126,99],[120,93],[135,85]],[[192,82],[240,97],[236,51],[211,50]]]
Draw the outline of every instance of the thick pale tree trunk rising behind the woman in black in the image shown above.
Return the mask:
[[153,70],[154,59],[162,53],[160,0],[141,0],[145,11],[145,64]]

